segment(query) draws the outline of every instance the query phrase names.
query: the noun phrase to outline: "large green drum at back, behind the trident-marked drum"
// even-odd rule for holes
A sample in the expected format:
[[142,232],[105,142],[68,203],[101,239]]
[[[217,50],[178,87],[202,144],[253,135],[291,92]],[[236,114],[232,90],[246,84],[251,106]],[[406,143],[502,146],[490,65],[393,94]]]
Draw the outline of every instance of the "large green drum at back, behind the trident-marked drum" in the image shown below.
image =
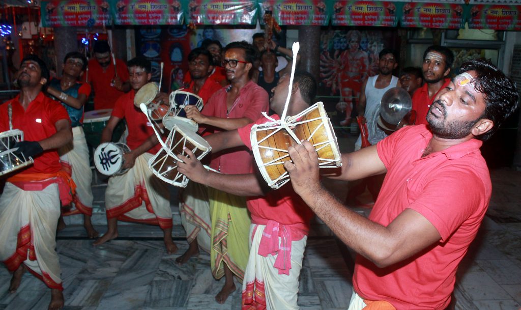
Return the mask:
[[[85,140],[92,147],[96,148],[100,145],[101,133],[107,125],[112,109],[93,110],[85,112],[83,116],[83,131],[85,132]],[[125,122],[120,121],[112,133],[112,142],[119,141],[121,135],[125,131]]]

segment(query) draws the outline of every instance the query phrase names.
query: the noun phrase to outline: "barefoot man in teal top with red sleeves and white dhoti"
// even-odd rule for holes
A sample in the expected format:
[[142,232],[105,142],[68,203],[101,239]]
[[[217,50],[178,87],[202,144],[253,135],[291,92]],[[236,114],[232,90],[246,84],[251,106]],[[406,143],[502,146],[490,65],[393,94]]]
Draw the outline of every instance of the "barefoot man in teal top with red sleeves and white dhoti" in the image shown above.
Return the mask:
[[[96,238],[98,232],[91,222],[92,216],[92,171],[89,162],[89,148],[83,133],[83,105],[91,94],[88,83],[79,82],[87,67],[87,59],[83,54],[71,52],[65,55],[63,77],[53,79],[47,88],[47,93],[65,107],[71,120],[72,143],[61,147],[61,165],[68,171],[76,183],[76,193],[72,197],[71,209],[64,210],[63,215],[83,214],[83,226],[89,238]],[[58,230],[65,228],[63,217],[60,216]]]

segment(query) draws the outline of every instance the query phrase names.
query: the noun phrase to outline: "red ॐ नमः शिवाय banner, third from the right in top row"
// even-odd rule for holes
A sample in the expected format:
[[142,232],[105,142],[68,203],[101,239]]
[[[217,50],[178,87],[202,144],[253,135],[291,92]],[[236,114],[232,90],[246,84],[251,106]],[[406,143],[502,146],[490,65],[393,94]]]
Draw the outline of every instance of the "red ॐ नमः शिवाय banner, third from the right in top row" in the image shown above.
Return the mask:
[[389,1],[333,1],[333,26],[396,27],[396,6]]

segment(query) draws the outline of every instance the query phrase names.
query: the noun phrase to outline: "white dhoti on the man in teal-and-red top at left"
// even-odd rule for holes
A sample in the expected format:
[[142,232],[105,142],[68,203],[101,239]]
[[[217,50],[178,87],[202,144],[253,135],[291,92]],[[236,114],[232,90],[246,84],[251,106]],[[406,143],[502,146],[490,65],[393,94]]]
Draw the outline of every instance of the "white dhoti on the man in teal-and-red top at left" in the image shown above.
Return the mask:
[[76,183],[76,193],[72,197],[71,209],[63,215],[83,213],[92,215],[92,170],[89,164],[89,147],[85,140],[83,128],[72,128],[73,140],[60,147],[61,166],[71,175]]

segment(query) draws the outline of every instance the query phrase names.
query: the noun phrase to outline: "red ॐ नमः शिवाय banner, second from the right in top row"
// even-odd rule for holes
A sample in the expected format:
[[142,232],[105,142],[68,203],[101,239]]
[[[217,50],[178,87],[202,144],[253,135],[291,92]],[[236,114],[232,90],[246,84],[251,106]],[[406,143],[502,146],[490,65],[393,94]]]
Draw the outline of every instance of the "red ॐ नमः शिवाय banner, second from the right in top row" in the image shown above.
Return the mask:
[[402,27],[461,29],[465,26],[465,10],[452,3],[400,3]]

